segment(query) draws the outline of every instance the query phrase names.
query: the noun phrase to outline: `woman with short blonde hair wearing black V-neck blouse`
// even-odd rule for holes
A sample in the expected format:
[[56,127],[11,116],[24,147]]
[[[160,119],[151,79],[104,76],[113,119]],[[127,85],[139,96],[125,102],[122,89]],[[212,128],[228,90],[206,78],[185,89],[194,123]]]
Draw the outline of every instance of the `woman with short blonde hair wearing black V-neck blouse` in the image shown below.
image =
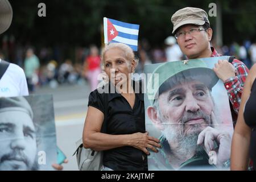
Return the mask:
[[[147,170],[148,150],[158,152],[155,147],[161,146],[145,131],[143,94],[135,92],[138,84],[131,80],[136,67],[134,53],[125,44],[112,43],[102,52],[102,61],[110,78],[105,86],[114,85],[115,92],[99,93],[96,89],[90,93],[84,147],[104,151],[105,170]],[[103,122],[106,133],[101,133]]]

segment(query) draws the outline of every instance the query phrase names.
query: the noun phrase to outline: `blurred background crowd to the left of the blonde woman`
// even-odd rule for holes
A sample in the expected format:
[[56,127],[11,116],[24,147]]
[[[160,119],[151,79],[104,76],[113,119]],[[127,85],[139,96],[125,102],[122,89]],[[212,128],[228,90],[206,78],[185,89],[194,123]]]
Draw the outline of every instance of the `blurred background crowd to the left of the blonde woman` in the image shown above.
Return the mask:
[[[15,60],[10,61],[17,63],[24,69],[28,89],[31,93],[38,86],[49,85],[51,88],[56,88],[61,84],[81,84],[84,80],[88,81],[88,84],[95,89],[97,75],[101,72],[101,61],[99,49],[96,46],[92,46],[90,49],[84,48],[84,55],[76,63],[71,59],[64,59],[63,61],[51,59],[46,49],[42,49],[36,55],[33,48],[24,51],[24,56],[22,56],[24,59],[19,64]],[[93,57],[96,57],[96,59]],[[1,50],[0,58],[9,60],[3,51],[1,53]]]

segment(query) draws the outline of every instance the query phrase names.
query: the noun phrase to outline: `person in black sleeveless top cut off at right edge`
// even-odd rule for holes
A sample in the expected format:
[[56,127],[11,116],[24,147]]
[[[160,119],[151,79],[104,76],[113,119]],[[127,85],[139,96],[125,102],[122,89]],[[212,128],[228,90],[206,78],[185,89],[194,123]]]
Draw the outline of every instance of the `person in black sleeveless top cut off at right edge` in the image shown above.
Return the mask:
[[231,150],[231,169],[247,170],[249,158],[256,169],[256,64],[245,81]]

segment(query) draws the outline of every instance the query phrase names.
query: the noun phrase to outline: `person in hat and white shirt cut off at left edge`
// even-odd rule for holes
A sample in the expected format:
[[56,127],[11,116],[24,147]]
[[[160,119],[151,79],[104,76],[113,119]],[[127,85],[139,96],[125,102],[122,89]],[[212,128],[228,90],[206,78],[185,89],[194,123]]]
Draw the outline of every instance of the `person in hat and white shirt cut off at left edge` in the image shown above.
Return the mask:
[[[11,25],[13,9],[8,0],[0,0],[0,35]],[[18,65],[0,59],[0,97],[28,96],[26,76]],[[64,163],[67,163],[65,160]],[[52,164],[57,170],[63,166]]]

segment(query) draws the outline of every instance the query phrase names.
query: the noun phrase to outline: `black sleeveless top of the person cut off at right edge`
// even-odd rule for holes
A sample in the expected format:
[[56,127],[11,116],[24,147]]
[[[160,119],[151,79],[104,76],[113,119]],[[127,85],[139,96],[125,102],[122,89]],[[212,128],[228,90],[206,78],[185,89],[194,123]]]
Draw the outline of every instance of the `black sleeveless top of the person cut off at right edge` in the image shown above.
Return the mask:
[[252,129],[250,140],[250,158],[253,160],[254,169],[256,169],[256,79],[251,86],[251,94],[246,102],[243,117],[245,118],[245,123]]

